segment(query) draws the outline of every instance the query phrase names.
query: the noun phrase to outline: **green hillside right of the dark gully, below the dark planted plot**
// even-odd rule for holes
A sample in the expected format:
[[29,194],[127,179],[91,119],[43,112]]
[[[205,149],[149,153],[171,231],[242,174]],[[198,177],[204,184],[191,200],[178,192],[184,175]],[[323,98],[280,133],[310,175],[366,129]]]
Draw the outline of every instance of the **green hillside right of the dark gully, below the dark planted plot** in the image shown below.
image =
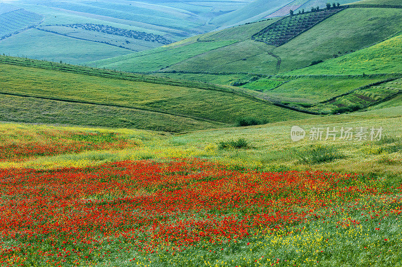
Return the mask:
[[[362,74],[360,68],[353,70],[338,62],[342,58],[352,56],[352,51],[381,42],[402,30],[402,14],[398,9],[346,9],[307,32],[297,36],[285,45],[273,50],[273,53],[282,58],[280,72],[309,66],[313,61],[328,60],[335,55],[339,58],[331,59],[328,63],[321,63],[306,70],[309,74]],[[345,24],[347,22],[347,24]],[[311,40],[315,40],[311,42]],[[358,53],[366,53],[363,50]],[[348,55],[345,55],[348,54]],[[322,68],[330,62],[338,72],[328,72]],[[324,65],[323,65],[324,64]],[[386,68],[386,64],[382,65]],[[366,65],[366,64],[364,64]],[[367,66],[367,65],[366,65]],[[358,67],[357,64],[354,67]],[[378,71],[376,73],[379,73]],[[382,72],[389,72],[383,70]],[[292,73],[305,74],[301,70]],[[306,73],[306,74],[307,74]]]

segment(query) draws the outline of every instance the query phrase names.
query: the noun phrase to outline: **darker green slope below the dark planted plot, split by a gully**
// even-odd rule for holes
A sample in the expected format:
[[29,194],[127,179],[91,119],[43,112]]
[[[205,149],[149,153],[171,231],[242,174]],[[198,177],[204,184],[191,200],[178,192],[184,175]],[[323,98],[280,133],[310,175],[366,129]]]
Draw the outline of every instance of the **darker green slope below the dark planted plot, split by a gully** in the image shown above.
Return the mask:
[[[183,60],[170,66],[166,71],[284,73],[307,67],[313,62],[325,61],[334,57],[342,58],[345,54],[351,54],[352,51],[381,42],[402,30],[401,16],[398,9],[346,9],[280,47],[275,48],[264,43],[253,42],[251,39],[245,39],[230,46]],[[345,21],[348,23],[345,24]],[[255,25],[262,23],[265,22],[255,23]],[[240,26],[239,30],[241,27],[243,26]],[[221,31],[216,34],[215,38],[208,35],[205,39],[218,41],[219,36],[228,38],[230,32],[228,35],[224,35],[224,33],[226,31],[233,32],[236,28]],[[253,29],[255,32],[250,31],[249,33],[258,33],[257,27],[253,27]],[[311,40],[315,40],[315,42]],[[185,48],[186,41],[184,40],[181,44],[184,47],[180,49]],[[318,69],[321,65],[315,65],[315,68]],[[317,74],[322,72],[317,72]],[[302,71],[298,70],[295,73],[302,73]],[[312,71],[309,74],[315,73]],[[345,70],[343,73],[349,73],[349,71]],[[356,73],[356,71],[352,73]]]

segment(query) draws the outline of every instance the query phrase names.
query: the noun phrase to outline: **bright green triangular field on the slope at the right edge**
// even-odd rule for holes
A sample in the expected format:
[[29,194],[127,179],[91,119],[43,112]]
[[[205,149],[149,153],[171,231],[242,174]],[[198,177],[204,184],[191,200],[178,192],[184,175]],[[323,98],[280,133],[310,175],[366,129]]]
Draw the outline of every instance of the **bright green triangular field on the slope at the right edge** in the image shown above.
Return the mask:
[[352,54],[289,74],[400,73],[402,72],[399,64],[401,43],[402,36],[396,36]]

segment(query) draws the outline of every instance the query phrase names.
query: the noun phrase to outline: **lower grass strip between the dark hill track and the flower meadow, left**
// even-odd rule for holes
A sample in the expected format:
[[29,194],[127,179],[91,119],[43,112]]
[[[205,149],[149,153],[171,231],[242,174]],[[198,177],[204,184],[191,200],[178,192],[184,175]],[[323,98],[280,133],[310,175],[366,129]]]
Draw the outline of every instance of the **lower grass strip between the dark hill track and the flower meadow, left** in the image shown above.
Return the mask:
[[223,126],[214,122],[136,109],[4,95],[0,99],[0,121],[125,127],[165,132],[186,132]]

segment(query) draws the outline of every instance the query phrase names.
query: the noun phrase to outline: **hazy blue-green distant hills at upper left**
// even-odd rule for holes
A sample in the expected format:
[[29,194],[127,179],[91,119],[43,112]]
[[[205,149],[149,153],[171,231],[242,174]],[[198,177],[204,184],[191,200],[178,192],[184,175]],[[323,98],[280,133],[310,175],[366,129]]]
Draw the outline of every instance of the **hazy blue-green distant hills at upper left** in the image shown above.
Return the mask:
[[[193,1],[19,0],[12,6],[16,13],[24,9],[43,16],[43,23],[36,27],[41,32],[30,31],[29,39],[21,34],[6,39],[0,42],[0,51],[11,56],[84,64],[209,32],[218,27],[208,23],[211,18],[248,3],[248,0],[225,0],[208,2],[206,6]],[[11,7],[7,5],[6,10],[6,5],[2,5],[0,12]],[[0,17],[0,39],[3,32],[9,37],[10,31],[3,29],[6,25],[12,26],[12,32],[30,26],[22,19],[21,28]],[[105,53],[99,53],[102,50]]]

